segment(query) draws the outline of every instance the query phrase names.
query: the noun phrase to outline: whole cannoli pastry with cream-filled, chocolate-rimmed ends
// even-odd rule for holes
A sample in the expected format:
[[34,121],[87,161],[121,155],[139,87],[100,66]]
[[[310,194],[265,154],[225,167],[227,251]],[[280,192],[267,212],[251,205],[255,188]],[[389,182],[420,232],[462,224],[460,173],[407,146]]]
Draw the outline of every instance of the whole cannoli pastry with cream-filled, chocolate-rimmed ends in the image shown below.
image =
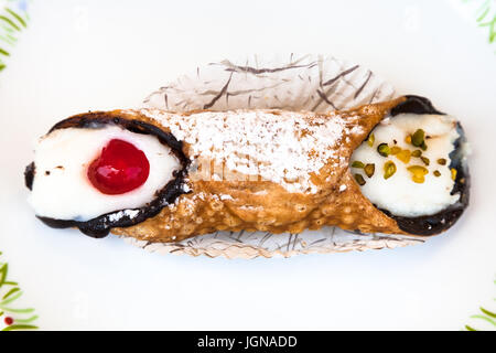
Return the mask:
[[94,237],[429,236],[468,204],[465,145],[457,120],[418,96],[328,114],[96,111],[37,141],[25,183],[42,222]]

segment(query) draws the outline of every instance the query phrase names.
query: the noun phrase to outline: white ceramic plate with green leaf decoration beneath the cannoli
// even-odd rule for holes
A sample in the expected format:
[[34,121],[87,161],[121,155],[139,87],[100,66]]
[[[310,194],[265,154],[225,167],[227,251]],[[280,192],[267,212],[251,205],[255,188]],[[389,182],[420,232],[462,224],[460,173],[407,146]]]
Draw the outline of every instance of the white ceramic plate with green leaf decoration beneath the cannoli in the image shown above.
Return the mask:
[[[0,328],[494,329],[496,53],[484,24],[496,6],[483,17],[484,3],[7,1],[26,28],[8,13],[18,40],[0,39]],[[139,106],[204,63],[292,51],[364,64],[462,120],[472,203],[452,229],[392,250],[229,260],[150,254],[34,218],[22,173],[55,121]]]

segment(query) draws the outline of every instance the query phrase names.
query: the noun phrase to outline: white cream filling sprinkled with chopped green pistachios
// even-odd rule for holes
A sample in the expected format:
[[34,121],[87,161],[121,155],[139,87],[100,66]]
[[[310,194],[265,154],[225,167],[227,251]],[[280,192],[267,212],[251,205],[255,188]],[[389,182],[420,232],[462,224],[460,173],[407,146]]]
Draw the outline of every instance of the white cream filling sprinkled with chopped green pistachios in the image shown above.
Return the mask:
[[[382,142],[389,147],[398,146],[411,151],[419,149],[405,141],[406,137],[417,129],[423,129],[425,136],[430,136],[425,139],[428,149],[422,151],[422,156],[430,160],[429,165],[419,158],[411,157],[406,164],[395,156],[386,158],[377,152],[377,147]],[[362,193],[377,207],[387,210],[393,215],[413,217],[435,214],[460,199],[460,194],[451,195],[454,181],[449,168],[451,162],[449,154],[454,150],[453,142],[459,138],[456,120],[453,117],[401,114],[381,121],[373,133],[375,136],[373,147],[365,141],[355,150],[351,161],[375,164],[371,178],[358,168],[352,168],[352,173],[360,173],[364,176],[366,183],[362,186]],[[441,158],[446,160],[445,165],[438,163]],[[392,161],[397,167],[396,173],[389,179],[384,178],[384,164],[387,161]],[[411,173],[407,170],[410,165],[422,165],[428,169],[429,173],[423,183],[412,181]],[[436,170],[441,173],[440,176],[434,175]]]

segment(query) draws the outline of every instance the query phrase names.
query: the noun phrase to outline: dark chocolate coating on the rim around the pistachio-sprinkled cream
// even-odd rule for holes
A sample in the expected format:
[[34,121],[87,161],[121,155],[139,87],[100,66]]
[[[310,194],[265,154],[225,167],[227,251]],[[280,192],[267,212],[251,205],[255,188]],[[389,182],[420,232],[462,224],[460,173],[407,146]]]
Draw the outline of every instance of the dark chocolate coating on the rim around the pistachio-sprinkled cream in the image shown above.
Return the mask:
[[[391,109],[391,116],[402,113],[445,115],[435,109],[428,98],[411,95],[406,96],[406,98],[407,100]],[[450,153],[450,169],[454,168],[456,170],[456,179],[451,194],[460,193],[460,200],[448,206],[445,210],[427,216],[405,217],[393,215],[387,210],[380,210],[389,217],[393,218],[398,223],[400,229],[409,234],[423,236],[442,233],[450,228],[468,206],[470,173],[463,156],[463,143],[465,143],[466,140],[460,122],[457,124],[457,132],[460,137],[454,142],[455,149]]]

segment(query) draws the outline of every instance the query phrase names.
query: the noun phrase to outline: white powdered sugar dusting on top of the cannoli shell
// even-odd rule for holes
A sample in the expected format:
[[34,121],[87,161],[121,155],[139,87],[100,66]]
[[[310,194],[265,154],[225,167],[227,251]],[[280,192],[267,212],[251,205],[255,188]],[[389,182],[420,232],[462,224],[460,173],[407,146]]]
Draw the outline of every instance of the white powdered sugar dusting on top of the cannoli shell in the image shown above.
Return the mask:
[[[284,110],[203,111],[191,115],[142,109],[191,146],[190,157],[223,163],[244,175],[260,175],[290,192],[315,193],[310,174],[336,156],[347,133],[341,116]],[[341,160],[342,158],[339,158]],[[192,163],[194,164],[194,162]],[[213,178],[222,180],[214,174]],[[214,179],[215,180],[215,179]]]

